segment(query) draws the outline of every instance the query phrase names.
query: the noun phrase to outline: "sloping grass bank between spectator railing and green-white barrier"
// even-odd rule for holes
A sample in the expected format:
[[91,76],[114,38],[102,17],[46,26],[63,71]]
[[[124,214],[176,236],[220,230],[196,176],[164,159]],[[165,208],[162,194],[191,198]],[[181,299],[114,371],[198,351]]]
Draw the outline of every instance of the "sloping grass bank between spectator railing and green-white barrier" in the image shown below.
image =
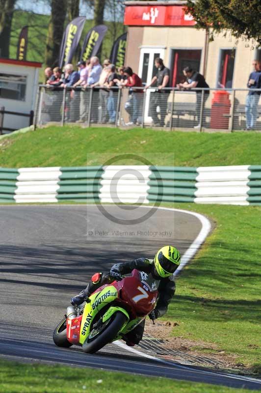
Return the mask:
[[[135,153],[154,165],[261,165],[261,134],[199,134],[136,128],[48,127],[0,140],[0,166],[100,165]],[[117,164],[140,164],[127,159]]]

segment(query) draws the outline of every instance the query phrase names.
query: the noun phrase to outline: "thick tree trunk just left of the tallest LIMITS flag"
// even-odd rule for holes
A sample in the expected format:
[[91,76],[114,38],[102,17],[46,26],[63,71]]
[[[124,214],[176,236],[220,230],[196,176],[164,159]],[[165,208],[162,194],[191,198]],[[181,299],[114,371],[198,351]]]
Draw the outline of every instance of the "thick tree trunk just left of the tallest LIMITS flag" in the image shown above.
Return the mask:
[[54,67],[57,65],[63,36],[66,9],[66,0],[51,1],[51,17],[48,26],[45,48],[45,64],[49,67]]

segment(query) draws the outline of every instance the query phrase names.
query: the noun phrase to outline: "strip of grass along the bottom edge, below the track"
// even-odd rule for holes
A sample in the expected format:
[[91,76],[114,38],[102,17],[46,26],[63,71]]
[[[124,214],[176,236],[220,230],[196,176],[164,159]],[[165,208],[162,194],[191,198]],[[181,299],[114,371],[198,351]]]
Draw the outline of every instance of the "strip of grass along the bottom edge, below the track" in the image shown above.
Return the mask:
[[[98,382],[99,381],[99,382]],[[141,377],[90,368],[0,361],[0,392],[8,393],[247,393],[201,383]],[[254,391],[253,391],[254,392]],[[257,391],[255,391],[257,392]]]

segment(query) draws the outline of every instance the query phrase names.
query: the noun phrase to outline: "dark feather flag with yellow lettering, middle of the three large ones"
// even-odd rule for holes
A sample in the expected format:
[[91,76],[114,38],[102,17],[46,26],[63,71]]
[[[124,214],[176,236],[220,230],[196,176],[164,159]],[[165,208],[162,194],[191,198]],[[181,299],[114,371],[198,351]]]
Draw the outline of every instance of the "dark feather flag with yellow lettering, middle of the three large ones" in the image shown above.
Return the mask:
[[87,32],[80,54],[82,60],[86,61],[88,58],[97,55],[107,29],[105,25],[97,25]]

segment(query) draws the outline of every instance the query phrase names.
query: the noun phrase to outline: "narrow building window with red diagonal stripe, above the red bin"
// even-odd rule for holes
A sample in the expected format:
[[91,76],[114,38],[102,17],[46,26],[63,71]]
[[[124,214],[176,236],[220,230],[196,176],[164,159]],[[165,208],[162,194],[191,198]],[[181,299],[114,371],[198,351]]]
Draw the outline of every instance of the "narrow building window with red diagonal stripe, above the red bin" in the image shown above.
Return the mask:
[[217,87],[232,87],[235,64],[235,51],[221,49]]

